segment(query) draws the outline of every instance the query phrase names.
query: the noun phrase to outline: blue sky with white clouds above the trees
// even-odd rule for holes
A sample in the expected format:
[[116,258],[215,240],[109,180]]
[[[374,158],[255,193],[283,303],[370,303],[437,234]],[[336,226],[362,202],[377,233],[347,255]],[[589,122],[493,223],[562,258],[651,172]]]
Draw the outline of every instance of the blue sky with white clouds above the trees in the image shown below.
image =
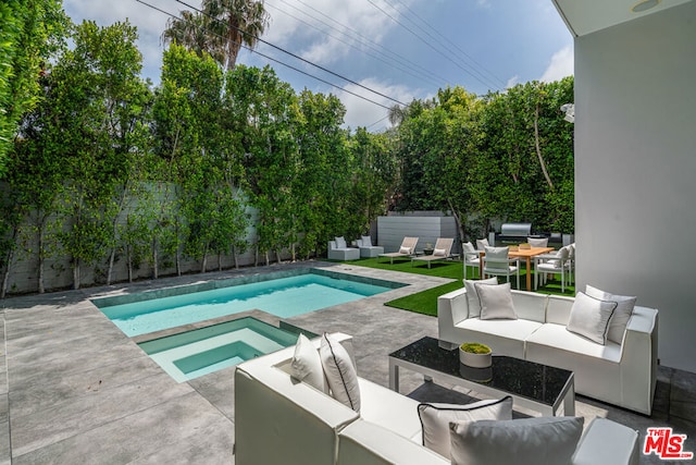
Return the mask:
[[[179,15],[200,0],[141,0]],[[388,108],[462,86],[485,95],[573,74],[573,39],[551,0],[265,0],[271,20],[238,63],[270,64],[297,93],[334,94],[345,126],[389,127]],[[142,76],[156,85],[170,15],[137,0],[63,0],[75,23],[138,28]],[[273,61],[275,60],[275,61]]]

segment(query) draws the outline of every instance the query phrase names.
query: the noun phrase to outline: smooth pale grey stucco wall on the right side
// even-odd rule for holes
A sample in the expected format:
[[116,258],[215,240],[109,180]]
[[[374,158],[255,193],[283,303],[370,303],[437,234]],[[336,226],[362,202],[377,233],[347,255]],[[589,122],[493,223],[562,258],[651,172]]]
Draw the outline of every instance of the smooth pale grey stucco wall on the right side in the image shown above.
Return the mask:
[[579,290],[658,308],[696,372],[696,1],[575,39],[575,238]]

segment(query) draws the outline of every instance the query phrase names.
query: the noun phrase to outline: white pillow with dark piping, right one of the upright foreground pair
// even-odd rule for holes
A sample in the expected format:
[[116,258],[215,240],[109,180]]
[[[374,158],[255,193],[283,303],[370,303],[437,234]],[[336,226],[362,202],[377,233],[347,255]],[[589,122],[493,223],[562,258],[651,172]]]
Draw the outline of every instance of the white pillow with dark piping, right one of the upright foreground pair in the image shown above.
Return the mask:
[[319,354],[333,397],[347,407],[360,412],[358,372],[346,348],[334,336],[324,333]]

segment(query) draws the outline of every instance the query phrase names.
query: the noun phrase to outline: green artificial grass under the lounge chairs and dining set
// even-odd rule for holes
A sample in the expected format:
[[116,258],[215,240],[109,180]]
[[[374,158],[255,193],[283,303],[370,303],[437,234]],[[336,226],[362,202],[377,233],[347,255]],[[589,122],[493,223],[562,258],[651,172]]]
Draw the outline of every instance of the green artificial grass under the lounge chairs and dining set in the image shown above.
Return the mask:
[[[461,261],[436,261],[431,264],[431,268],[427,268],[426,264],[415,264],[411,266],[411,260],[394,260],[394,265],[385,259],[378,258],[363,258],[358,261],[350,261],[355,265],[360,265],[368,268],[377,268],[383,270],[402,271],[407,273],[426,274],[439,278],[449,278],[456,280],[455,282],[443,284],[437,287],[422,291],[406,297],[396,298],[394,301],[385,303],[389,307],[400,308],[403,310],[414,311],[417,314],[437,316],[437,297],[448,292],[456,291],[464,286],[462,282],[464,266]],[[475,279],[474,270],[469,267],[469,273],[467,279]],[[532,271],[534,273],[534,271]],[[500,278],[499,278],[500,279]],[[505,282],[505,278],[502,281]],[[510,278],[512,286],[514,286],[515,279]],[[534,276],[532,276],[532,282],[534,282]],[[520,286],[524,289],[526,283],[526,270],[524,267],[520,272]],[[537,292],[546,294],[558,295],[575,295],[575,287],[566,285],[566,292],[561,293],[560,277],[555,279],[548,279],[545,286],[540,286]]]

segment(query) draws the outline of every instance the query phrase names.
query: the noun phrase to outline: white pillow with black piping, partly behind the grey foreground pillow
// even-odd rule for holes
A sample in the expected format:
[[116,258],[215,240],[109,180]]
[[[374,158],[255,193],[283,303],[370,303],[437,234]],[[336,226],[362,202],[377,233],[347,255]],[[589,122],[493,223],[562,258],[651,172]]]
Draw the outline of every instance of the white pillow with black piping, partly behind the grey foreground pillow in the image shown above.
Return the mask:
[[450,458],[449,424],[481,419],[512,419],[512,397],[486,400],[471,404],[419,404],[423,445]]

